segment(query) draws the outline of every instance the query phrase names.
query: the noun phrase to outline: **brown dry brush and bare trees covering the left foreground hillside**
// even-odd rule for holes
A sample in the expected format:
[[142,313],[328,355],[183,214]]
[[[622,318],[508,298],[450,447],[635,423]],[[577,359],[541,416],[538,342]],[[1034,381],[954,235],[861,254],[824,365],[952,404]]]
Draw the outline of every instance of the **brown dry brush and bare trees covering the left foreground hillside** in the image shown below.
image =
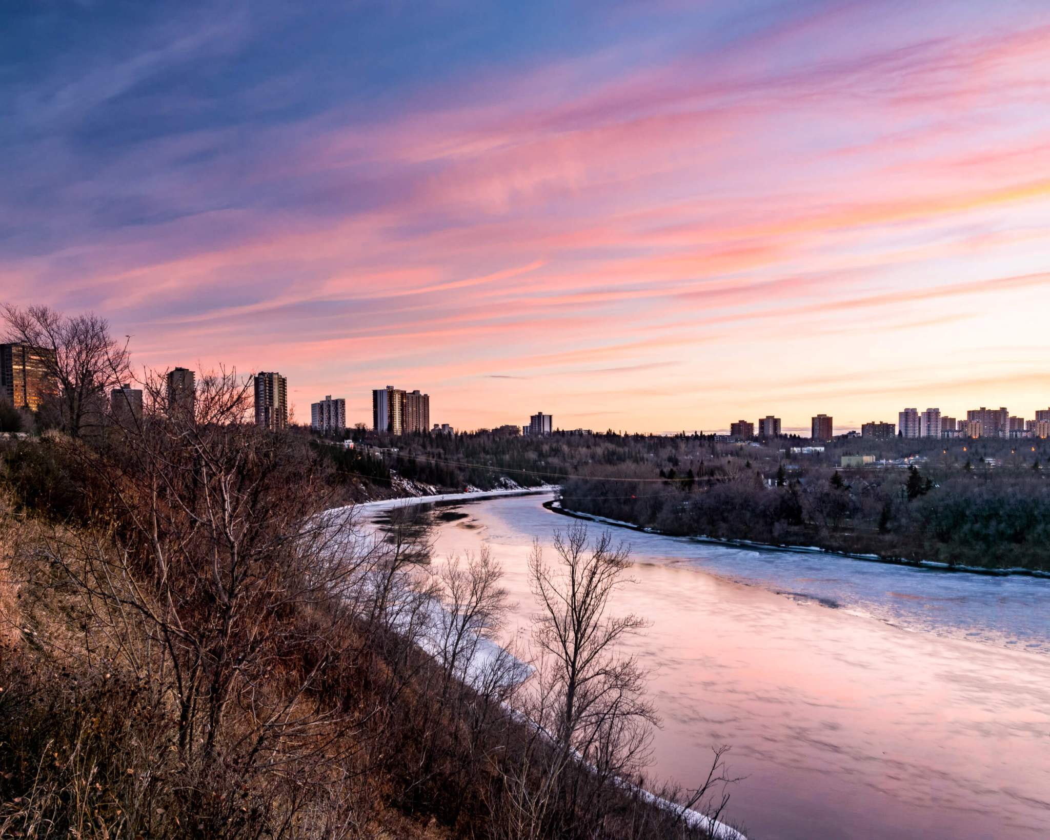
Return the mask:
[[326,512],[331,467],[248,423],[233,375],[192,416],[161,383],[141,421],[4,452],[0,836],[706,836],[634,786],[654,718],[615,653],[639,624],[607,613],[622,551],[538,554],[526,667],[492,644],[494,556],[435,571],[417,525]]

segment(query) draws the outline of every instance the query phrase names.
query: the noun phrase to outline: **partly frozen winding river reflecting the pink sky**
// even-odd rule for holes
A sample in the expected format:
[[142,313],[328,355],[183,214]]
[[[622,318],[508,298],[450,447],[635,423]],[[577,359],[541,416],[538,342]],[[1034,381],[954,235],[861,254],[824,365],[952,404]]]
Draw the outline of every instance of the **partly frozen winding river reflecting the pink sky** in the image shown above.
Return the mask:
[[[435,508],[436,562],[487,543],[502,563],[508,638],[533,539],[571,522],[547,498]],[[651,622],[630,652],[654,775],[695,784],[730,744],[726,816],[757,840],[1050,838],[1050,581],[613,530],[634,579],[614,609]]]

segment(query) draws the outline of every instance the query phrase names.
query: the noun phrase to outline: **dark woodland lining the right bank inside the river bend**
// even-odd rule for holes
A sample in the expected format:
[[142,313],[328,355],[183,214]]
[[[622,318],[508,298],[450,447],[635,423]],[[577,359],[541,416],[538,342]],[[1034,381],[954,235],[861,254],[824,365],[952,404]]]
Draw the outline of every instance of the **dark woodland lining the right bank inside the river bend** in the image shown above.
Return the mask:
[[[676,536],[820,546],[887,559],[1050,569],[1050,482],[1042,469],[937,463],[837,469],[754,454],[656,470],[657,482],[579,478],[566,508]],[[754,460],[751,460],[751,459]],[[743,463],[740,463],[743,461]],[[652,474],[650,474],[651,476]]]

